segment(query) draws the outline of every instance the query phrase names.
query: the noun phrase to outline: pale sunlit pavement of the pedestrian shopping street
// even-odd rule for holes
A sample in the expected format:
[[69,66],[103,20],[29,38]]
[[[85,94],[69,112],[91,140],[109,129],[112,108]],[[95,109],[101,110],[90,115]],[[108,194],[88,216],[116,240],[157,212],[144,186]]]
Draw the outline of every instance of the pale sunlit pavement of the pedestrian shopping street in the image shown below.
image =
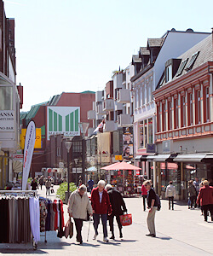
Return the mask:
[[[55,186],[55,190],[57,187]],[[44,195],[44,190],[39,190]],[[55,198],[50,195],[50,198]],[[156,213],[157,237],[145,236],[147,231],[147,211],[142,211],[141,198],[125,199],[128,211],[133,215],[133,224],[124,227],[124,238],[118,238],[118,227],[115,226],[116,240],[103,242],[100,225],[97,241],[93,241],[94,229],[91,223],[89,241],[87,234],[89,222],[83,224],[83,245],[75,241],[75,230],[72,239],[58,238],[55,231],[47,232],[47,243],[44,237],[38,242],[37,251],[32,244],[0,244],[3,255],[49,254],[49,255],[212,255],[213,222],[204,222],[199,209],[188,210],[186,205],[176,203],[175,211],[168,210],[168,202],[162,201],[162,209]],[[65,219],[68,218],[64,206]],[[109,230],[109,227],[108,227]],[[111,235],[110,233],[108,234]]]

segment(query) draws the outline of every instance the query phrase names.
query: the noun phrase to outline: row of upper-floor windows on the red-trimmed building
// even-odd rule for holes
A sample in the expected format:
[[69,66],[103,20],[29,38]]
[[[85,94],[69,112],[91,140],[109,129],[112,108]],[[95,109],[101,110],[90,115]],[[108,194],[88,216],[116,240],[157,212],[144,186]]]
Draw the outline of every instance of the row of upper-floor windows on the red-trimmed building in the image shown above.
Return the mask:
[[[194,99],[194,101],[193,101]],[[166,106],[167,105],[167,106]],[[179,111],[181,108],[181,111]],[[202,110],[203,109],[203,110]],[[162,103],[162,106],[157,107],[158,113],[158,132],[170,131],[172,129],[178,129],[189,125],[199,125],[202,123],[202,119],[205,122],[210,121],[210,88],[204,87],[203,101],[201,97],[201,90],[195,90],[180,96],[180,101],[174,98],[173,102]],[[167,116],[166,116],[166,113]],[[161,119],[162,117],[162,119]],[[174,117],[174,124],[173,124]],[[168,124],[168,128],[166,125]]]

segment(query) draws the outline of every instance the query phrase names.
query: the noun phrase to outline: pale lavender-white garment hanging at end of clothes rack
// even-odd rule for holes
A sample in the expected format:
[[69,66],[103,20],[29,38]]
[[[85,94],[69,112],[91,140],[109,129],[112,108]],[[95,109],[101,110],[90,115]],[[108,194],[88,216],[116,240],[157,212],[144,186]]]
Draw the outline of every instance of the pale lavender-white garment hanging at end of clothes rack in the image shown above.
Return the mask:
[[30,202],[30,219],[31,219],[31,230],[34,241],[40,241],[40,208],[39,199],[32,197]]

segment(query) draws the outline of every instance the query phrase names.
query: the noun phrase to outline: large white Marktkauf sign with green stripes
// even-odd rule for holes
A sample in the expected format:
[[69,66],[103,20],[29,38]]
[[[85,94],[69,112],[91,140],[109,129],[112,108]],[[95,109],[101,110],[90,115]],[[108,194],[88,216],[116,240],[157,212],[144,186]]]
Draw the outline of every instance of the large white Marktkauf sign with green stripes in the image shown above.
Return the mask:
[[79,136],[80,107],[47,108],[48,140],[51,135]]

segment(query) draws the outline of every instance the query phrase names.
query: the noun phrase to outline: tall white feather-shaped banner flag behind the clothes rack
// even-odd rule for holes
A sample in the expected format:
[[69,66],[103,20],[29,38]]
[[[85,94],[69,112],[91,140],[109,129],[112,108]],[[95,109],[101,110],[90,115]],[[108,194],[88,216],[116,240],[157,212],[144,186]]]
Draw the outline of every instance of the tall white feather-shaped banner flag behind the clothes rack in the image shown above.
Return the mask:
[[29,176],[32,154],[36,141],[36,126],[33,121],[30,121],[26,128],[26,141],[24,149],[24,160],[23,160],[23,173],[22,173],[22,190],[26,190],[27,178]]

